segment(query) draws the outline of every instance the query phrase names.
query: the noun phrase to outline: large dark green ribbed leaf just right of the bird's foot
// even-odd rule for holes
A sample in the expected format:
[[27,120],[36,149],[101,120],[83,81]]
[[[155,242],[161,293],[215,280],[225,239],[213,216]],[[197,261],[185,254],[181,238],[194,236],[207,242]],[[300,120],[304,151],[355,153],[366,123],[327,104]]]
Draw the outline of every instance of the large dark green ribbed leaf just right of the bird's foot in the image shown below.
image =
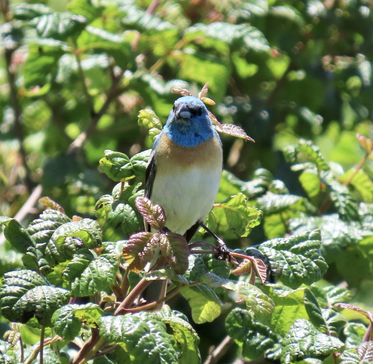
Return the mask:
[[291,288],[312,284],[326,272],[327,264],[320,254],[319,230],[307,231],[288,238],[265,241],[257,249],[268,257],[276,275]]

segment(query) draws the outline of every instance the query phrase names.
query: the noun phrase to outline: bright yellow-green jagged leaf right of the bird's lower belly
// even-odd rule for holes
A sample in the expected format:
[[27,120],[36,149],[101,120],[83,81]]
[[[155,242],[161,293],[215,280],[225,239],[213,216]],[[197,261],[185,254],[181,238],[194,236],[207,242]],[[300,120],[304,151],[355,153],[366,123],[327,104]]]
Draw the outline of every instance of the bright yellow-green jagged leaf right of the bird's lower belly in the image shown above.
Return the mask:
[[239,237],[250,234],[252,228],[260,224],[263,213],[255,207],[248,207],[244,194],[239,193],[218,205],[224,209],[229,227]]

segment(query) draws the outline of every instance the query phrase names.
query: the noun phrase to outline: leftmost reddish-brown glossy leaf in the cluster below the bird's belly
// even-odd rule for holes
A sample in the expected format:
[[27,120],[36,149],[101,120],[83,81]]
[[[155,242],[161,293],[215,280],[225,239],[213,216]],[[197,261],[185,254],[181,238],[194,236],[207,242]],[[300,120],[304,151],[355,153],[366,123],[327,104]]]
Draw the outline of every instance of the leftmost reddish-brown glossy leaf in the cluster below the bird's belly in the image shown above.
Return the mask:
[[124,261],[129,264],[128,268],[140,273],[148,262],[151,262],[159,242],[153,239],[152,232],[139,232],[131,235],[123,246]]

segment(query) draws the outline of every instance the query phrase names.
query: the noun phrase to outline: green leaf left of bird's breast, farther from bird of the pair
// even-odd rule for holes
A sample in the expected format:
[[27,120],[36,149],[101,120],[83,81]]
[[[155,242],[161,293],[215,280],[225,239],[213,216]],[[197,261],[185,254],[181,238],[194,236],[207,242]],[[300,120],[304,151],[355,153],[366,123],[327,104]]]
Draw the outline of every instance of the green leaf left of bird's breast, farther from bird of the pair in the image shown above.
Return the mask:
[[105,150],[105,157],[100,159],[104,173],[113,181],[120,182],[134,178],[134,170],[129,158],[121,152]]

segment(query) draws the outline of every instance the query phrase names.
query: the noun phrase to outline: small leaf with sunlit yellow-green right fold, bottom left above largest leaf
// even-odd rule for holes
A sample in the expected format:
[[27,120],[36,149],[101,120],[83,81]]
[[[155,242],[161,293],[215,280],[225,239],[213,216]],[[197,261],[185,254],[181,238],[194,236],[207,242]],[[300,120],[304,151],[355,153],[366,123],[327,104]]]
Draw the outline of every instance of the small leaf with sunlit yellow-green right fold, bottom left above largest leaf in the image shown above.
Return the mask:
[[98,327],[98,319],[103,316],[104,311],[95,303],[85,305],[66,305],[54,312],[51,323],[56,334],[73,340],[78,336],[82,323],[90,327]]

